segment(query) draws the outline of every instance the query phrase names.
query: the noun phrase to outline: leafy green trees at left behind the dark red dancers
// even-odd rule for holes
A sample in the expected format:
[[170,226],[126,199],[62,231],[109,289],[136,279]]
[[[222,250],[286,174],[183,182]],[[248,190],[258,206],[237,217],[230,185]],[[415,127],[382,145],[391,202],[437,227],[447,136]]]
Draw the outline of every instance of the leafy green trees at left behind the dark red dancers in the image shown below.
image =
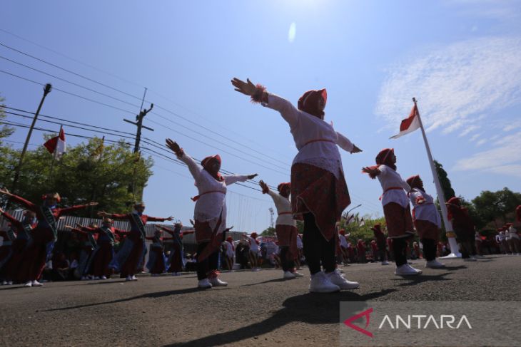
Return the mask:
[[[47,138],[49,136],[46,136]],[[146,187],[151,177],[153,161],[150,157],[133,155],[131,148],[121,141],[101,148],[101,139],[67,147],[67,152],[56,160],[51,177],[52,155],[41,146],[26,152],[16,194],[38,202],[46,192],[59,192],[64,206],[99,202],[96,210],[126,212],[136,197],[128,192],[128,186]],[[12,170],[18,162],[19,150],[11,150],[8,165]],[[11,175],[0,177],[10,186]],[[83,216],[93,217],[94,209],[80,211]]]

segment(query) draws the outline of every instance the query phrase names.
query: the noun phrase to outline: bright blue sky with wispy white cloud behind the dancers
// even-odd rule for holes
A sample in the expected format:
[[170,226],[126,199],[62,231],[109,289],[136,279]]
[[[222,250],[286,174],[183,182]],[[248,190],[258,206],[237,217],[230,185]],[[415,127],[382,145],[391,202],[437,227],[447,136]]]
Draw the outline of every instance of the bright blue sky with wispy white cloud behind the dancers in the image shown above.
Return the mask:
[[[382,148],[394,147],[400,174],[420,174],[434,193],[420,132],[389,140],[415,96],[433,156],[458,195],[521,191],[516,1],[4,1],[2,12],[1,43],[136,96],[0,46],[0,56],[131,103],[0,59],[1,70],[124,110],[54,90],[45,115],[133,133],[122,119],[138,112],[146,87],[156,107],[144,122],[155,131],[143,130],[144,136],[159,143],[173,138],[197,158],[220,153],[224,169],[256,172],[276,186],[289,180],[296,153],[288,125],[236,93],[231,78],[249,77],[294,103],[305,90],[327,88],[326,120],[363,149],[342,153],[351,206],[382,215],[378,182],[360,173]],[[35,110],[41,86],[0,73],[0,93],[6,105]],[[41,143],[41,135],[34,133],[31,143]],[[25,136],[19,129],[10,140]],[[188,170],[154,160],[147,212],[188,223],[189,198],[196,195]],[[228,224],[248,232],[268,227],[267,196],[238,186],[228,192]]]

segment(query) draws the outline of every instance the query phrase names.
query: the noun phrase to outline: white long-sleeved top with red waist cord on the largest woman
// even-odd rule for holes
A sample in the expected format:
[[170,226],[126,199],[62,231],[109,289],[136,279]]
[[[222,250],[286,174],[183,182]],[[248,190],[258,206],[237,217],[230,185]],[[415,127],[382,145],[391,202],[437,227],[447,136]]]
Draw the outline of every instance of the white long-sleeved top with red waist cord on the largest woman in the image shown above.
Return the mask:
[[290,125],[290,132],[298,149],[293,164],[300,162],[314,165],[328,170],[337,178],[343,175],[342,159],[337,145],[347,152],[351,152],[354,146],[348,138],[335,131],[333,124],[298,110],[278,95],[268,93],[268,103],[262,105],[278,110]]

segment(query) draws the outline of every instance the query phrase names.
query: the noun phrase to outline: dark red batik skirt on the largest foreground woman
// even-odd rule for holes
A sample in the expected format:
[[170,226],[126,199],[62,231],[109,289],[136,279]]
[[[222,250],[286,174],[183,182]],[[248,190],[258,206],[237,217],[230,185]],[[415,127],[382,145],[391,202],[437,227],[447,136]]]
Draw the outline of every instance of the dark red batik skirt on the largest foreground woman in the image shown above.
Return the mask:
[[335,223],[351,203],[343,173],[337,180],[328,170],[303,163],[291,167],[291,196],[293,214],[313,213],[327,241],[335,236]]

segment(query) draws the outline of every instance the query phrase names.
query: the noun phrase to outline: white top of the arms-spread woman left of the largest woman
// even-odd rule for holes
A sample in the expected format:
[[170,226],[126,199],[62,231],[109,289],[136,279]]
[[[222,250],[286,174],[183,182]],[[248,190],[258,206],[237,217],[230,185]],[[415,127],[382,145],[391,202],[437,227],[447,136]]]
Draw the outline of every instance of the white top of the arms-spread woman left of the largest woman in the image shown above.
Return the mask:
[[[248,176],[223,176],[224,180],[219,182],[208,171],[203,170],[203,167],[186,153],[179,160],[188,165],[190,173],[196,180],[194,185],[197,187],[199,195],[201,195],[196,202],[196,207],[193,209],[193,219],[199,222],[209,222],[210,227],[213,229],[216,227],[219,218],[221,218],[218,233],[223,232],[226,229],[226,186],[235,182],[245,182],[248,180]],[[205,192],[211,193],[203,194]]]

